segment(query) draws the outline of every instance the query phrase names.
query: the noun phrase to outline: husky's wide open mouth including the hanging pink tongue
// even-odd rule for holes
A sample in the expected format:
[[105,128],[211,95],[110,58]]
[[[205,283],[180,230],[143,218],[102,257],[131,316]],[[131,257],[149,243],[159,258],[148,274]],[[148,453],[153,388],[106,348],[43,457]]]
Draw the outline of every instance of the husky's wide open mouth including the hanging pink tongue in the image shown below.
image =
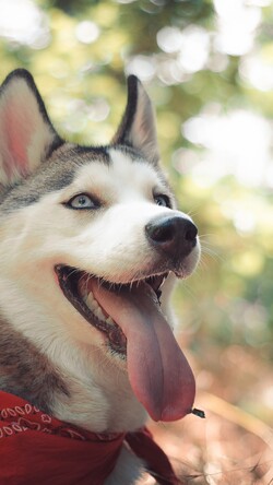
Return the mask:
[[168,273],[115,284],[63,264],[55,271],[63,295],[126,360],[132,391],[150,416],[176,421],[190,413],[194,377],[159,305]]

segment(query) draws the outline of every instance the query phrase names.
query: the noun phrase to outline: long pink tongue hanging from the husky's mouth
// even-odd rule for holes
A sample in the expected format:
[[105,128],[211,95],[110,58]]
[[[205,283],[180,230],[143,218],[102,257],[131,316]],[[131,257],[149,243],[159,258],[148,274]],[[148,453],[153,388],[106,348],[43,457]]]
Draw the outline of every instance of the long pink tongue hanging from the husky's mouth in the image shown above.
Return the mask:
[[95,280],[90,289],[127,338],[131,387],[154,421],[176,421],[190,412],[195,381],[183,353],[145,283],[112,293]]

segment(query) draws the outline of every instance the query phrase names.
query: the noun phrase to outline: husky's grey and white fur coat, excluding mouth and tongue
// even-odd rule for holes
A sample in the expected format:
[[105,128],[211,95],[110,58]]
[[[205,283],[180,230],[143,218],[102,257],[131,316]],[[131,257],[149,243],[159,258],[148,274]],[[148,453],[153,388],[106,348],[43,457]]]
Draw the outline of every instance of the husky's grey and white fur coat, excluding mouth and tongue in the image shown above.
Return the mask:
[[[92,431],[138,429],[146,410],[126,355],[66,298],[55,269],[121,285],[168,273],[162,312],[173,324],[174,274],[194,270],[200,247],[158,166],[149,96],[131,76],[112,142],[83,147],[57,134],[31,74],[16,70],[1,87],[0,133],[0,389]],[[170,216],[189,223],[177,257],[162,228],[158,248],[147,237]],[[133,484],[142,471],[124,449],[107,484]]]

